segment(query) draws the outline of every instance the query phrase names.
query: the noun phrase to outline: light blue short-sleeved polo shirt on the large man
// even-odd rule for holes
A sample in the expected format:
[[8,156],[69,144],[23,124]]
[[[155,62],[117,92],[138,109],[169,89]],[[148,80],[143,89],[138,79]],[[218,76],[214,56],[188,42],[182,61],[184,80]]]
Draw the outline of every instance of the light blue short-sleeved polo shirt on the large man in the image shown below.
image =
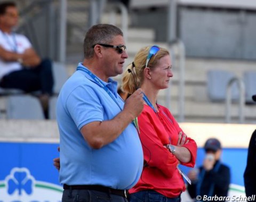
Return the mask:
[[[79,66],[85,68],[82,63]],[[102,80],[101,80],[102,81]],[[114,94],[117,82],[102,81]],[[110,144],[91,148],[80,130],[87,123],[113,119],[121,112],[108,93],[91,76],[76,71],[63,85],[57,101],[60,132],[60,183],[68,185],[99,184],[114,189],[130,189],[140,178],[143,153],[136,128],[132,123]]]

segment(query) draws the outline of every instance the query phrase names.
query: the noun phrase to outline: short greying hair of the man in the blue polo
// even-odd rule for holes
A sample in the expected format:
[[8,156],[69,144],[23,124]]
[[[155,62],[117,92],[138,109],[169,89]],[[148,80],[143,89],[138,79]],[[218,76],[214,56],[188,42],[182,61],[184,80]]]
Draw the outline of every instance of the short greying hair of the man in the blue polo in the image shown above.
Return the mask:
[[84,38],[84,58],[93,57],[95,44],[110,44],[117,35],[123,36],[123,32],[112,24],[96,24],[86,33]]

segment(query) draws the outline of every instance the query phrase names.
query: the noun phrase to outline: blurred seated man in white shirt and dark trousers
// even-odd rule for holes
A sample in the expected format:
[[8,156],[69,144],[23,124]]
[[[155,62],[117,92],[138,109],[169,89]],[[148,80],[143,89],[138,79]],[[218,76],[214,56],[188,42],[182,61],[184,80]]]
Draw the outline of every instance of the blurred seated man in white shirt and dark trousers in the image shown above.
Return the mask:
[[25,92],[39,90],[39,99],[47,117],[53,87],[51,61],[41,60],[27,37],[13,32],[18,20],[15,3],[0,3],[0,87]]

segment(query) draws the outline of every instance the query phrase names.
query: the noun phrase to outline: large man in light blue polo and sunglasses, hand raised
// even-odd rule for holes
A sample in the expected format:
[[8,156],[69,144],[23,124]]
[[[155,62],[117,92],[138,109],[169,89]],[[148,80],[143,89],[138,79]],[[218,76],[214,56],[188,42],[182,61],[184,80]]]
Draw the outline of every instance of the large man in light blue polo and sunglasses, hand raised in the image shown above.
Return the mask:
[[122,31],[89,29],[84,61],[63,85],[57,102],[62,201],[127,201],[140,178],[143,154],[133,120],[143,109],[138,89],[124,103],[117,82],[128,57]]

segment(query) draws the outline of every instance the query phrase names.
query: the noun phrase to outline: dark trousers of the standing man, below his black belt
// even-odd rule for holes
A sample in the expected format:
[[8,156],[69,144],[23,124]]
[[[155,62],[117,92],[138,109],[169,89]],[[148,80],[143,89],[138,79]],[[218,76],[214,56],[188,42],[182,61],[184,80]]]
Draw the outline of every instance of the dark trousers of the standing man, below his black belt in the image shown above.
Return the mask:
[[128,202],[122,196],[113,195],[106,192],[86,190],[86,189],[73,189],[64,190],[62,195],[62,202]]

